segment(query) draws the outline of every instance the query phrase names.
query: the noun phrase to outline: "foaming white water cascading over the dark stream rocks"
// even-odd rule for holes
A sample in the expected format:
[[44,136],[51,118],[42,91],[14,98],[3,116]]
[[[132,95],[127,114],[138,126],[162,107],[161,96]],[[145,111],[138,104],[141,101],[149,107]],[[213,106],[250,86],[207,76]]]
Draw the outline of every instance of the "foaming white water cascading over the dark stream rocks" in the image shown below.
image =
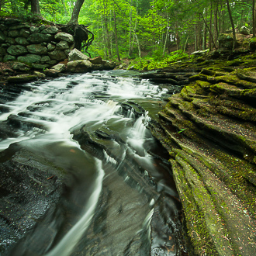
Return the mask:
[[[152,168],[152,160],[144,147],[145,141],[150,140],[147,137],[146,128],[150,120],[148,113],[144,112],[144,116],[140,116],[135,121],[134,109],[130,109],[127,115],[124,116],[119,103],[131,99],[160,99],[165,91],[161,91],[156,85],[151,85],[145,80],[137,81],[133,78],[122,77],[110,78],[109,74],[111,74],[109,71],[94,72],[57,78],[53,81],[43,82],[39,86],[34,83],[30,84],[31,90],[29,92],[23,92],[14,102],[5,103],[9,112],[2,113],[0,121],[5,121],[9,119],[10,115],[13,115],[21,123],[23,121],[36,123],[40,128],[24,130],[22,126],[19,130],[16,130],[18,137],[0,142],[1,150],[9,147],[9,144],[22,140],[23,143],[27,141],[29,147],[29,140],[38,138],[43,143],[57,140],[65,143],[71,141],[74,144],[71,131],[85,126],[90,134],[99,129],[103,131],[104,129],[112,130],[118,133],[118,136],[126,144],[126,149],[116,151],[119,151],[118,153],[122,154],[123,158],[126,154],[129,154],[135,161],[140,162],[145,169]],[[40,140],[36,140],[36,142]],[[114,144],[115,142],[110,140],[109,144],[111,143]],[[79,147],[77,143],[75,144],[76,147]],[[33,144],[33,147],[40,147],[35,145],[38,144]],[[116,151],[113,150],[114,153]],[[103,150],[103,154],[107,163],[118,168],[116,160],[109,156],[106,150]],[[102,162],[95,157],[92,158],[95,161],[98,176],[92,182],[95,189],[89,196],[83,216],[46,256],[70,255],[92,220],[102,189],[101,184],[104,175]],[[150,204],[148,206],[150,213],[145,218],[145,221],[147,221],[141,228],[149,228],[153,209]],[[148,213],[148,209],[145,211]]]

